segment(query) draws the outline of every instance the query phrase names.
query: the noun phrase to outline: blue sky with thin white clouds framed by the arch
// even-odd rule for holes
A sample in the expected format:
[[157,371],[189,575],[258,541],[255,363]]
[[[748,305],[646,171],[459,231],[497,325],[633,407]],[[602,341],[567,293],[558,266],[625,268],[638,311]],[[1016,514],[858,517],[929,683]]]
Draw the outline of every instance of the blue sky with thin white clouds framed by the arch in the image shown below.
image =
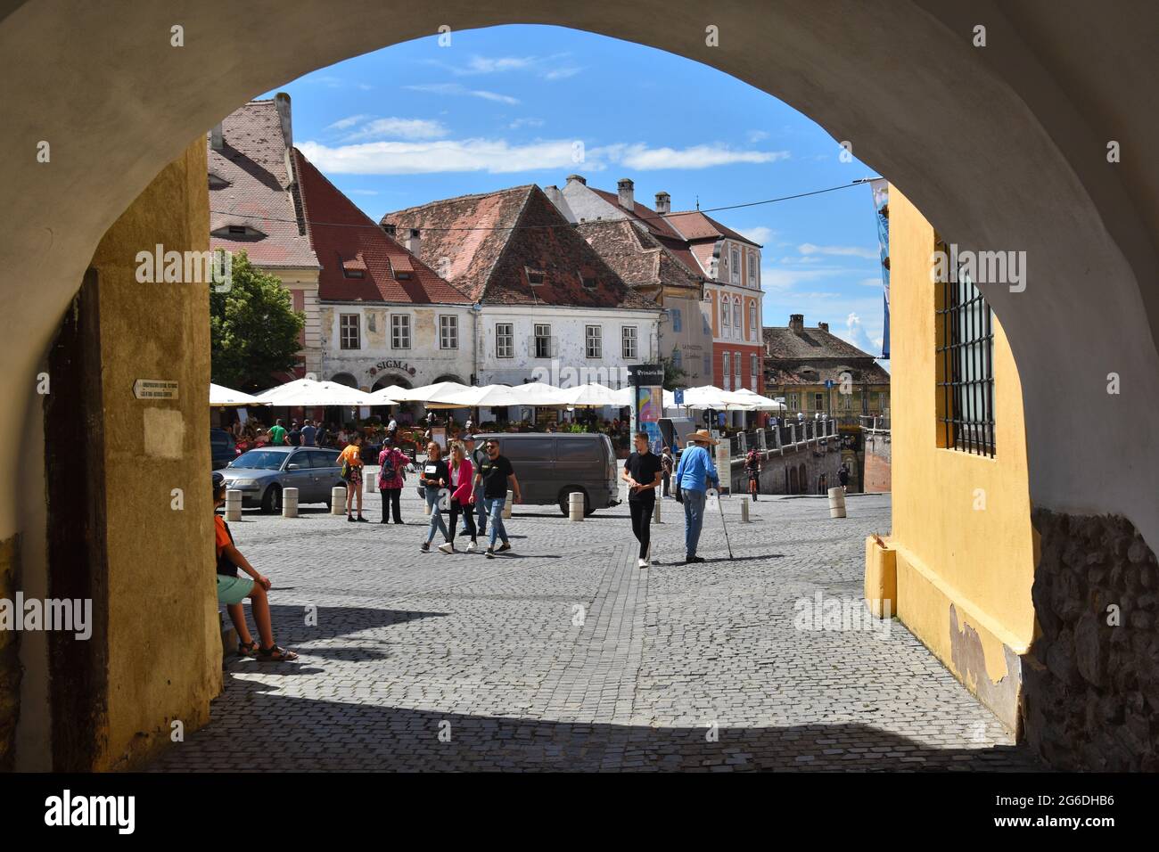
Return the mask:
[[[294,143],[376,220],[385,212],[578,173],[673,210],[744,204],[876,176],[811,119],[748,83],[663,51],[515,26],[386,48],[279,90]],[[272,96],[267,93],[263,96]],[[580,159],[577,162],[576,160]],[[867,185],[713,213],[764,246],[765,325],[790,313],[873,355],[882,293]]]

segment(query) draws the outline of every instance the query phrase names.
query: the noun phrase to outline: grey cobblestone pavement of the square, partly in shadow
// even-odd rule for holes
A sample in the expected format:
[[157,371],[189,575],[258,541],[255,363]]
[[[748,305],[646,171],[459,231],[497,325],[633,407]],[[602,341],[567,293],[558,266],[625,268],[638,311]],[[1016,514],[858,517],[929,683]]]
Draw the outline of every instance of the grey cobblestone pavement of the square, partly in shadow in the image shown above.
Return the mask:
[[[765,498],[748,524],[739,500],[722,500],[734,559],[713,512],[708,561],[679,563],[681,509],[664,501],[642,570],[625,507],[583,523],[517,507],[494,560],[420,553],[413,488],[407,526],[247,511],[234,538],[301,661],[234,660],[213,721],[154,769],[1038,767],[903,626],[860,621],[888,495],[851,496],[836,520],[821,497]],[[860,629],[817,629],[818,602]]]

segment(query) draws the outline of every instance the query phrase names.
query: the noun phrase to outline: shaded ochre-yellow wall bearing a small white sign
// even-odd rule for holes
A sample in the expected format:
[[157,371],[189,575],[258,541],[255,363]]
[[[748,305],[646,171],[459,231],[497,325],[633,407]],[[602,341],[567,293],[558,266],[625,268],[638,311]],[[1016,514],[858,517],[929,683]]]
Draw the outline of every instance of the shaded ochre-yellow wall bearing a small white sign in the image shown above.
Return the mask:
[[[100,281],[108,540],[108,730],[95,770],[131,767],[209,721],[221,686],[210,482],[209,287],[136,281],[136,255],[209,248],[196,139],[105,233]],[[138,400],[139,378],[178,383]],[[181,489],[183,509],[173,508]]]

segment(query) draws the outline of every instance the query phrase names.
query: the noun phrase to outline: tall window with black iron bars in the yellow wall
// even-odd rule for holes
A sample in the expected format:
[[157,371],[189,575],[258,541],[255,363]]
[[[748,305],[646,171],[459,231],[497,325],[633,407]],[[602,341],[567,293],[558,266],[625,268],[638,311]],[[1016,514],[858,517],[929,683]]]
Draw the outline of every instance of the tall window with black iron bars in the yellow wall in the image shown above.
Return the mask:
[[[949,256],[946,243],[936,248]],[[993,314],[968,276],[949,269],[947,278],[934,285],[938,446],[993,457]]]

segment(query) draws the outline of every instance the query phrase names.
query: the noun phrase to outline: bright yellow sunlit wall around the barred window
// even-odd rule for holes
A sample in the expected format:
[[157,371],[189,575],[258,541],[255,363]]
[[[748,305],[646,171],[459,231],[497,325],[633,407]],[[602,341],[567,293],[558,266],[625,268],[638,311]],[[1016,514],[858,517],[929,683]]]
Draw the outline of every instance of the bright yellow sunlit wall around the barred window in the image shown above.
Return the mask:
[[[1000,719],[1016,727],[1018,690],[1003,679],[1009,675],[1012,654],[1025,654],[1034,636],[1035,558],[1022,388],[996,316],[994,458],[938,446],[934,231],[896,187],[889,192],[889,545],[897,551],[897,612]],[[1018,672],[1013,679],[1020,680]]]

